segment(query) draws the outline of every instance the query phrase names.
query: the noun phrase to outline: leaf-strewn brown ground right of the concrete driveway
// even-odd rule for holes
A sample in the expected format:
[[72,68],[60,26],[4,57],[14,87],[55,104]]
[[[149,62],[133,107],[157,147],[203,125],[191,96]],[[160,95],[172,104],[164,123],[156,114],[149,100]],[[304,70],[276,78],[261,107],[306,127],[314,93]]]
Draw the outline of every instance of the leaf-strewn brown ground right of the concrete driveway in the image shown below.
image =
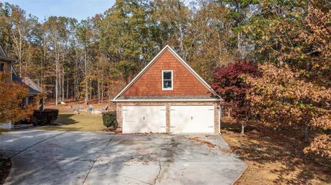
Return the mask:
[[237,184],[331,184],[330,160],[303,153],[300,129],[277,131],[257,122],[241,135],[239,126],[223,120],[222,137],[248,164]]

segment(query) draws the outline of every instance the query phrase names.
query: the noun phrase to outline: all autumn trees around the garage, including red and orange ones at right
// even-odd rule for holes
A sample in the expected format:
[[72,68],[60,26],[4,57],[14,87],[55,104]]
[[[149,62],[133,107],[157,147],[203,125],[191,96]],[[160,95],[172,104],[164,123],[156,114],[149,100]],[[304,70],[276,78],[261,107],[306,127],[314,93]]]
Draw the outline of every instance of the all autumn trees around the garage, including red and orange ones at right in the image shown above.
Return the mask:
[[300,127],[331,157],[331,2],[116,1],[103,14],[43,21],[0,3],[0,43],[15,69],[56,103],[109,99],[166,44],[225,99],[245,125]]

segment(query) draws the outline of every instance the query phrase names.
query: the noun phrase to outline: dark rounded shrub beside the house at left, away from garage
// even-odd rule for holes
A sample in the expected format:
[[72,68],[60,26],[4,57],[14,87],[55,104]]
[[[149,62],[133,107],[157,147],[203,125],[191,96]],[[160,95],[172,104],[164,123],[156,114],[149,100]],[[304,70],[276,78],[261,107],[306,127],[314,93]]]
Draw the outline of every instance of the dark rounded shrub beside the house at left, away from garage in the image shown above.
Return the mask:
[[58,109],[35,110],[32,119],[34,124],[51,124],[57,120],[57,116],[59,116]]

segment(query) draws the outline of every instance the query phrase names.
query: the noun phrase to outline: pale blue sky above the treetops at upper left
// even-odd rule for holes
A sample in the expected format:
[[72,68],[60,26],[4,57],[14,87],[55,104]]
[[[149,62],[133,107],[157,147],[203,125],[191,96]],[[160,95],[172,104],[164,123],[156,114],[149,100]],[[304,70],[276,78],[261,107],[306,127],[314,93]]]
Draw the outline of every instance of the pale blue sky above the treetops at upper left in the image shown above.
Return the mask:
[[103,13],[114,5],[114,0],[0,0],[18,5],[26,14],[33,14],[43,21],[46,17],[74,17],[81,21]]

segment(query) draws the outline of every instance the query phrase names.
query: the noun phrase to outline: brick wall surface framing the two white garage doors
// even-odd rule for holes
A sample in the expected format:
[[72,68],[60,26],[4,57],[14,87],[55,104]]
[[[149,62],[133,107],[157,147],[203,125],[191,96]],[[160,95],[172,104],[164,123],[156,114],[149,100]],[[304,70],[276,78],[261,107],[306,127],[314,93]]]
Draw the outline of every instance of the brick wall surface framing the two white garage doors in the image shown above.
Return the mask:
[[217,102],[117,102],[117,122],[122,127],[123,105],[165,105],[166,131],[170,133],[170,106],[171,105],[214,105],[214,133],[219,133],[219,107]]

